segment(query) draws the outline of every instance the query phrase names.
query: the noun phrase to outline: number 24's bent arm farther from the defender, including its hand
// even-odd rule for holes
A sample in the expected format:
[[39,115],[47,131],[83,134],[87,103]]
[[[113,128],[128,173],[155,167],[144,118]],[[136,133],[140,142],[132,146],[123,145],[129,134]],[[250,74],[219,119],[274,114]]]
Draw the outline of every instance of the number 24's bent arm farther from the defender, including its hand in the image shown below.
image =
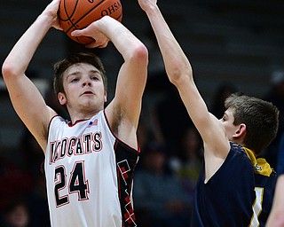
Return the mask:
[[2,67],[12,106],[43,150],[46,145],[48,124],[55,113],[45,105],[39,90],[25,72],[48,30],[52,26],[58,27],[58,6],[59,0],[54,0],[45,8],[14,45]]

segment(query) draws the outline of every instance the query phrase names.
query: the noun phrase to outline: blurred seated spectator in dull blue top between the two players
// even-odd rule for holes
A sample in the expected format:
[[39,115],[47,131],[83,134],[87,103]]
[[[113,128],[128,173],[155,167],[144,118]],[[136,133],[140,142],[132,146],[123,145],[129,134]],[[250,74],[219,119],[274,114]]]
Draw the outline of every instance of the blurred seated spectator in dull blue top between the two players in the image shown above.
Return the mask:
[[167,168],[165,150],[151,145],[144,152],[143,169],[135,174],[133,188],[138,226],[189,226],[190,201],[177,177]]

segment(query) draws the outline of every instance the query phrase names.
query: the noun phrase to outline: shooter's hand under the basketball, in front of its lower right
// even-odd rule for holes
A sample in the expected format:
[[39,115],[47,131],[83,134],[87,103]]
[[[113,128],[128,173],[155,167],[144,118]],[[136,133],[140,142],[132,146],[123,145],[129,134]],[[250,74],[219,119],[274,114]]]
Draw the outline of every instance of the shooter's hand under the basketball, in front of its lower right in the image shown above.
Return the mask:
[[94,42],[87,44],[87,48],[105,48],[109,39],[104,35],[99,28],[100,21],[92,22],[88,27],[85,27],[80,30],[75,30],[71,33],[72,36],[89,36]]

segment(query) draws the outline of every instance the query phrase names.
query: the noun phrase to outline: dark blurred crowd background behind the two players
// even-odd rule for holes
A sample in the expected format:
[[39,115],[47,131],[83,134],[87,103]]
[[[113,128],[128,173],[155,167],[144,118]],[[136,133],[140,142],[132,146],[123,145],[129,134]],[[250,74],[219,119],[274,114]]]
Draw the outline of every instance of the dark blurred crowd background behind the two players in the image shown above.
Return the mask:
[[[1,3],[1,63],[49,2]],[[158,4],[192,63],[194,79],[212,114],[221,118],[225,98],[235,91],[264,98],[279,107],[279,133],[263,157],[272,168],[284,172],[284,2],[160,0]],[[201,137],[177,90],[168,82],[146,15],[137,1],[122,0],[122,7],[122,23],[146,43],[150,53],[138,128],[141,156],[133,188],[138,226],[189,226],[201,167]],[[27,72],[47,104],[63,116],[67,114],[51,88],[52,65],[72,51],[85,49],[51,29]],[[111,99],[122,58],[112,43],[106,49],[91,51],[105,63]],[[14,113],[2,78],[0,103],[0,227],[50,226],[41,172],[43,152]]]

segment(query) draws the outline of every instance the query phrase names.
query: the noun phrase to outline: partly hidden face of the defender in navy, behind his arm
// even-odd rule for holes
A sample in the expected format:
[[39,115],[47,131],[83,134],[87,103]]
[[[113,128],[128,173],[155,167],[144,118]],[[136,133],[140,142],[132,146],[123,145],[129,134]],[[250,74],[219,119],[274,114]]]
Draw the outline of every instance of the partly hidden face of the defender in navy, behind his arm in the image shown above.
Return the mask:
[[234,141],[233,135],[236,134],[239,127],[233,125],[234,117],[233,117],[233,109],[227,109],[223,115],[223,117],[220,119],[222,125],[225,129],[225,135],[228,137],[230,141]]

